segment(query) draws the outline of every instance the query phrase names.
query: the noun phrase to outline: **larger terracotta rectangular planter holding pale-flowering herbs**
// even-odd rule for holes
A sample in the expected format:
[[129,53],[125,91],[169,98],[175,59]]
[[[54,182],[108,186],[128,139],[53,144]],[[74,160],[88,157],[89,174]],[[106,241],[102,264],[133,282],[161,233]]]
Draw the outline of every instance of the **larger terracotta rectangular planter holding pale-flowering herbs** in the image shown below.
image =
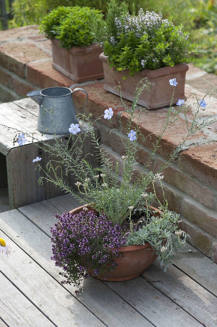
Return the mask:
[[[129,71],[117,71],[114,67],[109,67],[107,57],[103,53],[100,54],[100,59],[103,62],[103,70],[105,77],[104,89],[119,95],[119,91],[114,89],[120,82],[121,94],[124,99],[133,100],[134,91],[138,82],[147,77],[148,82],[153,83],[150,88],[150,93],[146,90],[140,95],[138,104],[146,107],[147,109],[157,109],[164,106],[168,106],[171,100],[173,88],[170,87],[169,80],[176,78],[178,84],[175,90],[174,103],[177,103],[178,99],[185,98],[185,75],[189,69],[188,65],[183,63],[175,65],[174,67],[163,67],[156,70],[144,69],[139,73],[135,73],[134,76],[129,76]],[[126,75],[127,79],[122,79]]]

